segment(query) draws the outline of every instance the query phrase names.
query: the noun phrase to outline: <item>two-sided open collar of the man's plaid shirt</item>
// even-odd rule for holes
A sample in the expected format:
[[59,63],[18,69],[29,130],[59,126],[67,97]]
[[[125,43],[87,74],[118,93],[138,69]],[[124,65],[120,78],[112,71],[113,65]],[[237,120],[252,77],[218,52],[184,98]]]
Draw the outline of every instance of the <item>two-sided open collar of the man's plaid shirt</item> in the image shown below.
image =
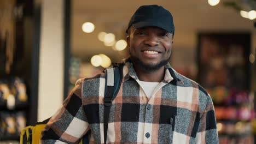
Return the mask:
[[[138,76],[136,74],[135,69],[133,68],[133,64],[129,59],[125,59],[123,61],[125,63],[124,69],[123,69],[123,82],[126,82],[130,78],[138,80]],[[176,76],[178,73],[171,67],[170,63],[167,63],[165,65],[165,76],[164,76],[164,82],[170,83],[170,82],[178,82],[180,84],[184,84],[184,82]]]

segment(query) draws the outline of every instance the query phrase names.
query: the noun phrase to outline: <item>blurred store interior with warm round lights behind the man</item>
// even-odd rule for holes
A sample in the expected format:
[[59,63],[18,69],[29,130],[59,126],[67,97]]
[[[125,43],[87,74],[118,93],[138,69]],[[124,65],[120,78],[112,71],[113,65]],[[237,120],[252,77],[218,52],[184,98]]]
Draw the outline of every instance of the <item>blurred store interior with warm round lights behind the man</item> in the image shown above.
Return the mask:
[[0,0],[0,143],[52,116],[81,77],[128,56],[140,5],[170,10],[170,64],[210,93],[219,143],[256,143],[256,1]]

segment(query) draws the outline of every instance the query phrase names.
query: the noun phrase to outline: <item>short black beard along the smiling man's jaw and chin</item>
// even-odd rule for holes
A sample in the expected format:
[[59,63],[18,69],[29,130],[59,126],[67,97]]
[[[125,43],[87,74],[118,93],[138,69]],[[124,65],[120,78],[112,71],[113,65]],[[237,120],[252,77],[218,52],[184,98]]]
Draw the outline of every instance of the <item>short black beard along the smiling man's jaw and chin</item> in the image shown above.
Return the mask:
[[133,64],[139,65],[139,67],[141,67],[144,70],[156,71],[156,70],[159,70],[161,67],[165,66],[170,61],[170,58],[171,58],[171,55],[170,55],[170,57],[168,59],[163,59],[159,63],[156,63],[156,64],[145,64],[138,57],[131,56],[131,61],[132,61]]

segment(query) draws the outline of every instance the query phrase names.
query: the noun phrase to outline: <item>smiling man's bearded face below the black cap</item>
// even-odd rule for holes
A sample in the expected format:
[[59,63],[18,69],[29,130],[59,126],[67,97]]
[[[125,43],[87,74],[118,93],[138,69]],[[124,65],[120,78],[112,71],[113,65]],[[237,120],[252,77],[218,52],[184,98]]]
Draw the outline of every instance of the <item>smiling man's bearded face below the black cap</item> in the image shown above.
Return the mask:
[[171,57],[172,36],[159,27],[131,27],[127,44],[133,64],[150,71],[166,65]]

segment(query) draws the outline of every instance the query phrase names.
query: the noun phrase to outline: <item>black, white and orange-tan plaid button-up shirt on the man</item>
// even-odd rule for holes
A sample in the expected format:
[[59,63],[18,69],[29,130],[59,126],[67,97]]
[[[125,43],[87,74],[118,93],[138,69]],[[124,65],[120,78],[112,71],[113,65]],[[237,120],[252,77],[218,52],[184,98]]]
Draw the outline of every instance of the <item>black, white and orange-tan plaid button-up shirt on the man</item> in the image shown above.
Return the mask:
[[[125,63],[110,107],[107,143],[218,143],[210,95],[170,64],[165,68],[164,80],[148,99],[132,63]],[[78,82],[46,125],[42,143],[75,143],[89,130],[90,143],[104,143],[104,76]]]

